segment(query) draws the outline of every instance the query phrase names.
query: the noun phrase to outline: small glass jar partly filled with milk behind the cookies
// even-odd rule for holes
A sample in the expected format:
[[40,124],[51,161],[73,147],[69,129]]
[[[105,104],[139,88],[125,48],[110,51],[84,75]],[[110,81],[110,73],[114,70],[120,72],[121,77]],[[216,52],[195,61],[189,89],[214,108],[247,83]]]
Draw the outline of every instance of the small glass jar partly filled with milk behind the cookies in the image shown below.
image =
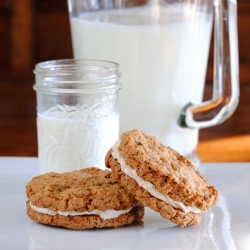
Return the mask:
[[119,136],[119,65],[55,60],[34,70],[40,173],[104,168]]

